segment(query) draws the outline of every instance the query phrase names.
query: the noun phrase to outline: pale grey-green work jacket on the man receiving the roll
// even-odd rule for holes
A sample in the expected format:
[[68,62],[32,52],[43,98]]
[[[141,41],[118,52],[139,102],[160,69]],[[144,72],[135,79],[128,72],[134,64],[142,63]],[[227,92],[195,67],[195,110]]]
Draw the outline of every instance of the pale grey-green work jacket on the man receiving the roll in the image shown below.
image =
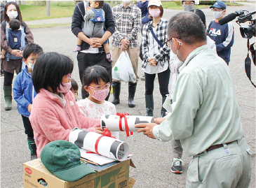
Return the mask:
[[154,126],[156,139],[181,140],[189,157],[211,145],[241,139],[243,127],[229,67],[208,45],[189,54],[170,104],[172,113]]

